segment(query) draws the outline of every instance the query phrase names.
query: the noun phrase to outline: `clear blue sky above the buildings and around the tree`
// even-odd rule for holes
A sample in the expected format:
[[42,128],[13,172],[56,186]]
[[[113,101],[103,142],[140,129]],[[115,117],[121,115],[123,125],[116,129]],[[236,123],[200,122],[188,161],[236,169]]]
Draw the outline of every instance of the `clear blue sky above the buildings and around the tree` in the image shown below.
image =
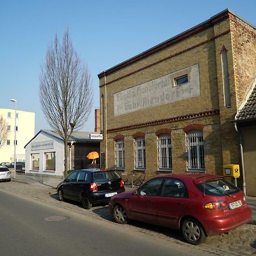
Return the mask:
[[99,108],[98,73],[172,38],[226,8],[256,24],[256,1],[0,0],[0,108],[36,112],[35,132],[48,129],[39,103],[40,65],[55,34],[69,28],[73,45],[88,64],[94,91],[89,121]]

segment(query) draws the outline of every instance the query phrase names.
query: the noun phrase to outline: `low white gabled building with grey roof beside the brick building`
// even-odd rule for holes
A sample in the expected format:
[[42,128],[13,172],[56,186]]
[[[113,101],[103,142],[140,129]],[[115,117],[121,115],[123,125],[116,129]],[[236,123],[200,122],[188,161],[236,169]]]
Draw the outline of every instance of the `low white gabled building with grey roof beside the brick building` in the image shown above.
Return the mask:
[[[95,132],[72,133],[68,142],[69,170],[85,168],[86,164],[92,162],[86,159],[86,155],[90,151],[100,152],[100,138],[100,133]],[[64,143],[59,134],[51,130],[40,130],[24,147],[26,148],[25,174],[63,177]]]

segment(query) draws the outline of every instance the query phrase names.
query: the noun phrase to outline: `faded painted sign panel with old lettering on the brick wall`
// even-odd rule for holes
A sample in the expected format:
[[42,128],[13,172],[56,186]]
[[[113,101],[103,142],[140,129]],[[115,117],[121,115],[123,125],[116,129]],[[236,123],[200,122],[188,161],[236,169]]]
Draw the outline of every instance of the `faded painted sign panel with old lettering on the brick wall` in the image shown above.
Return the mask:
[[[188,75],[188,82],[175,85],[175,78]],[[200,96],[199,65],[181,69],[114,94],[114,115]]]

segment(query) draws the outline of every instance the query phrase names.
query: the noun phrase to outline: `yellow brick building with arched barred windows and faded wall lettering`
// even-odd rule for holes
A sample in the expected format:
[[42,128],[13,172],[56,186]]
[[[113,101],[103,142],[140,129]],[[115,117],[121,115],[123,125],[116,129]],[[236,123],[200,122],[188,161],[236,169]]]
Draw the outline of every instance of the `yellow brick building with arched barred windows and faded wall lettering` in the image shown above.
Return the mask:
[[148,179],[241,164],[232,121],[256,77],[255,45],[255,27],[224,10],[100,73],[101,166]]

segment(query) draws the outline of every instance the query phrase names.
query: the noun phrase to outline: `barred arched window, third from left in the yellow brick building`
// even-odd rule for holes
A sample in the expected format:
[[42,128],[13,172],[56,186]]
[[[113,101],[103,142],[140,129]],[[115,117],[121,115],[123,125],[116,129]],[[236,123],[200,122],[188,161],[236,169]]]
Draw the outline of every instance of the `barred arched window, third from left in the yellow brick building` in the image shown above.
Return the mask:
[[172,168],[172,150],[170,134],[162,134],[158,137],[158,168]]

